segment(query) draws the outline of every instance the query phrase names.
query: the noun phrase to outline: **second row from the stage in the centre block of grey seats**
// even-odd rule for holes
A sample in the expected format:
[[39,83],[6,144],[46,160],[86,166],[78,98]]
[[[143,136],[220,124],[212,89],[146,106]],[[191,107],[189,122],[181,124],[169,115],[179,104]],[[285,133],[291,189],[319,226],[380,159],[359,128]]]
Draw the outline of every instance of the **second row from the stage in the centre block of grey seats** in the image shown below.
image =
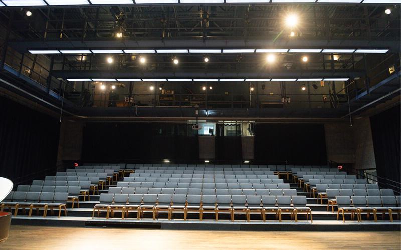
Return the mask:
[[297,190],[296,189],[214,189],[214,188],[200,189],[200,188],[110,187],[108,193],[296,196]]

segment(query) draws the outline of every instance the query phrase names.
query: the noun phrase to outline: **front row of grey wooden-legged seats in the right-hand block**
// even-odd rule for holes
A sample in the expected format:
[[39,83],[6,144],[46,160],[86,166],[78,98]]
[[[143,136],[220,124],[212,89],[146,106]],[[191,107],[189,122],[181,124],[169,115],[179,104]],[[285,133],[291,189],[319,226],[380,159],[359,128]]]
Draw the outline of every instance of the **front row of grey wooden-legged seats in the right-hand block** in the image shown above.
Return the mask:
[[388,213],[392,222],[392,211],[401,213],[401,196],[336,196],[338,206],[337,220],[342,214],[342,220],[345,222],[345,213],[351,214],[354,219],[357,214],[358,222],[362,221],[362,212],[366,212],[366,219],[369,219],[370,213],[373,212],[374,221],[377,222],[377,212],[382,213],[383,219],[385,213]]

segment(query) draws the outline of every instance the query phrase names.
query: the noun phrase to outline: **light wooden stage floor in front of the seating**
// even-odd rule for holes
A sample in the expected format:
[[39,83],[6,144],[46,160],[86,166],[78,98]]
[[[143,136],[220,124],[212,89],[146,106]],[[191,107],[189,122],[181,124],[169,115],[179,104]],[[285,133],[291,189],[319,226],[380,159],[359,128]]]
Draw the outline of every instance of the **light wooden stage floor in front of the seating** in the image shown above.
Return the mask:
[[12,225],[0,249],[400,249],[401,232],[192,231]]

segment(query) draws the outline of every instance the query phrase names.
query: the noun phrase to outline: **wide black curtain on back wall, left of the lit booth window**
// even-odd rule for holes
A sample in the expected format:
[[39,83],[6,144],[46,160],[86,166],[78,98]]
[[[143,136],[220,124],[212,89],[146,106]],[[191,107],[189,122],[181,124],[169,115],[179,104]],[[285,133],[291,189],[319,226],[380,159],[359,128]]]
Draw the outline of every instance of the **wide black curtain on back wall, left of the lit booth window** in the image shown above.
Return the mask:
[[169,123],[87,123],[84,162],[151,162],[197,160],[198,139],[190,126]]

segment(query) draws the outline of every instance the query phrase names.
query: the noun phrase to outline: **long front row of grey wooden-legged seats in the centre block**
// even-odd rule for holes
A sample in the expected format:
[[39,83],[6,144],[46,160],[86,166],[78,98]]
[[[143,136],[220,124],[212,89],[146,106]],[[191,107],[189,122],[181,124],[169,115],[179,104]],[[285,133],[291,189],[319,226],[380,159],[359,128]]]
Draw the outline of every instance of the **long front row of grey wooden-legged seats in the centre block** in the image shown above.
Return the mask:
[[266,214],[273,213],[276,219],[281,221],[281,214],[289,213],[297,221],[298,213],[306,213],[311,216],[309,207],[306,207],[305,196],[246,196],[246,195],[179,195],[179,194],[101,194],[100,204],[93,208],[95,211],[106,211],[106,218],[110,212],[122,212],[122,219],[128,217],[130,211],[137,212],[137,219],[144,213],[151,212],[155,220],[159,213],[168,213],[168,219],[172,219],[175,212],[184,213],[184,220],[188,213],[198,213],[199,220],[204,213],[214,213],[218,221],[219,213],[228,213],[234,221],[236,213],[246,215],[250,220],[251,213],[258,213],[266,221]]

